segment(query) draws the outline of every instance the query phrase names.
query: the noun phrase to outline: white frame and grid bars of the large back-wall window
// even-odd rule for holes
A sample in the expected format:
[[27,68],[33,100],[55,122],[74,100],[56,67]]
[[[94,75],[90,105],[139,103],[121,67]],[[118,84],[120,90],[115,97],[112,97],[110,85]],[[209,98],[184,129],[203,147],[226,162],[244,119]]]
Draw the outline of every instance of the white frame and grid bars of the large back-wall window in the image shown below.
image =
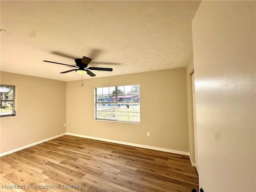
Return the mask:
[[[103,99],[102,98],[102,102],[98,102],[98,95],[97,95],[97,88],[106,88],[106,87],[95,87],[94,88],[94,120],[104,120],[104,121],[113,121],[113,122],[126,122],[126,123],[135,123],[135,124],[140,124],[141,121],[126,121],[126,120],[118,120],[118,104],[139,104],[139,107],[140,107],[140,101],[139,102],[118,102],[118,87],[119,86],[135,86],[135,85],[138,85],[140,86],[139,84],[132,84],[132,85],[118,85],[118,86],[108,86],[108,88],[110,87],[115,87],[115,101],[114,102],[103,102]],[[125,93],[123,93],[124,95],[126,95]],[[132,93],[131,93],[132,94]],[[136,94],[136,93],[135,93]],[[103,94],[102,92],[102,96],[104,96],[105,94]],[[109,94],[110,95],[110,94]],[[133,95],[133,94],[132,94]],[[140,96],[140,92],[138,93],[138,95]],[[110,98],[108,98],[110,99]],[[104,119],[104,118],[97,118],[97,112],[101,111],[101,110],[97,110],[97,104],[115,104],[115,118],[113,119],[110,119],[110,118],[107,118],[107,119]],[[103,111],[103,110],[102,110]],[[129,113],[137,113],[137,114],[140,114],[140,110],[139,112],[129,112]]]

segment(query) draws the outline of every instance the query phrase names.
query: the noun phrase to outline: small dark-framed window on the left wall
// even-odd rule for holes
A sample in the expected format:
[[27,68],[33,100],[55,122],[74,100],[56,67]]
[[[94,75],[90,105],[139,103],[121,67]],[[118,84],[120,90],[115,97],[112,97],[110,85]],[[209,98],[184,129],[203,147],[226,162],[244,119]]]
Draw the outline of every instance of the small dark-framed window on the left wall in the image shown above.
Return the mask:
[[11,85],[0,85],[0,116],[14,116],[14,91]]

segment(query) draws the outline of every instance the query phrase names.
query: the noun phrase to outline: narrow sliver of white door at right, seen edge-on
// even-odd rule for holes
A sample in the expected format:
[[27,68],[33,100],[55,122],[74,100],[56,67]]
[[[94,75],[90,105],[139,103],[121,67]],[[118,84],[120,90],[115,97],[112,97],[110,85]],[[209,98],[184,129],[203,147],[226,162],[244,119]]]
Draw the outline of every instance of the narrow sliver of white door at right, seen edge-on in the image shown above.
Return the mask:
[[194,146],[195,146],[195,165],[198,172],[198,158],[197,158],[197,130],[196,130],[196,100],[195,100],[195,79],[192,74],[192,96],[193,96],[193,122],[194,122]]

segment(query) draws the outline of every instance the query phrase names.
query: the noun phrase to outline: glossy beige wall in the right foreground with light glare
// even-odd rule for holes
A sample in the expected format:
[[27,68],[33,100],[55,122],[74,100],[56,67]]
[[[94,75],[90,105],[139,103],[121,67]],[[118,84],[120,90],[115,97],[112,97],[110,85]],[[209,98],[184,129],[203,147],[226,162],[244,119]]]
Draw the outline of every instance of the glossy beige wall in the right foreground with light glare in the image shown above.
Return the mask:
[[199,185],[256,191],[256,2],[202,1],[192,22]]

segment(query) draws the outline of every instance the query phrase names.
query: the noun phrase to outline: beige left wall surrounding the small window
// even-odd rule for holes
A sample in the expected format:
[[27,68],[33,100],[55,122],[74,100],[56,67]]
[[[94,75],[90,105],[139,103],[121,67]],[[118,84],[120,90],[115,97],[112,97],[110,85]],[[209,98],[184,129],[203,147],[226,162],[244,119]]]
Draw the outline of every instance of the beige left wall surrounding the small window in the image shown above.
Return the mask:
[[16,116],[0,118],[1,153],[66,132],[66,82],[0,72],[16,86]]

